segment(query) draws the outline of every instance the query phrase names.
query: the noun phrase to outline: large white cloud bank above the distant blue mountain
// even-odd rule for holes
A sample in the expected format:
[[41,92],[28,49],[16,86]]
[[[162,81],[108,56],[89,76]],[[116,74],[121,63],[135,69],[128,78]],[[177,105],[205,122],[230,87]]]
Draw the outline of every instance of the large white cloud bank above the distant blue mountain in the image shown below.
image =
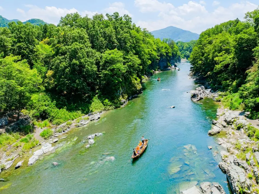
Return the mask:
[[[144,0],[135,0],[135,5],[136,1],[144,2]],[[143,11],[143,8],[139,7],[139,4],[137,5],[136,6],[140,11]],[[145,4],[142,5],[144,6]],[[201,33],[207,28],[211,28],[216,24],[228,20],[234,20],[236,18],[242,20],[247,11],[252,11],[256,8],[257,5],[250,3],[249,1],[243,1],[240,3],[233,3],[229,7],[219,6],[213,11],[208,12],[203,5],[189,1],[187,4],[175,7],[172,12],[160,11],[157,14],[157,20],[140,20],[136,22],[136,24],[137,26],[147,28],[150,31],[165,28],[167,26],[175,26],[184,30]],[[199,11],[195,9],[198,9]],[[172,14],[176,11],[178,13]],[[184,11],[186,14],[184,14]]]

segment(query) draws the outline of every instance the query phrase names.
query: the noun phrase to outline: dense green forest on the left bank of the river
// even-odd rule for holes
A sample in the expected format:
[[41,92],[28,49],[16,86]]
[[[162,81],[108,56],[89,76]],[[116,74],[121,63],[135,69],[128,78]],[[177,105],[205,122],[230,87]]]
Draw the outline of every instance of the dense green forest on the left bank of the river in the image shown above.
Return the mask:
[[0,112],[61,124],[121,106],[151,70],[179,62],[170,39],[155,39],[128,15],[68,14],[54,24],[0,28]]

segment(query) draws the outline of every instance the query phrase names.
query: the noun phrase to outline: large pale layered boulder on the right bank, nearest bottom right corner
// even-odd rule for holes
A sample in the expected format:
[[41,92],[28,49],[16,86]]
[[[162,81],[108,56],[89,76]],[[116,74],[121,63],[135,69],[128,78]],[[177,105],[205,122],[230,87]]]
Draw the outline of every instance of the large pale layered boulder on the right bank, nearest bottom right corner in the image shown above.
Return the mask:
[[245,171],[239,166],[230,164],[226,170],[226,174],[233,193],[239,193],[239,187],[242,189],[247,188],[248,190],[252,187],[252,183],[246,178]]

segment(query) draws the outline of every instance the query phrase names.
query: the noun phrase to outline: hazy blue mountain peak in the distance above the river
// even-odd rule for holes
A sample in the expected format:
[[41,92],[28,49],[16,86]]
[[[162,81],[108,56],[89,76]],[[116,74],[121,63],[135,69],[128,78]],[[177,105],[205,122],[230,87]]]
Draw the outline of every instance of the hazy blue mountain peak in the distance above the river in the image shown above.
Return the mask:
[[174,26],[168,26],[166,28],[155,30],[151,32],[155,38],[163,40],[164,38],[171,38],[175,42],[189,42],[191,40],[199,39],[199,34],[190,32],[188,30],[183,30],[181,28],[176,28]]

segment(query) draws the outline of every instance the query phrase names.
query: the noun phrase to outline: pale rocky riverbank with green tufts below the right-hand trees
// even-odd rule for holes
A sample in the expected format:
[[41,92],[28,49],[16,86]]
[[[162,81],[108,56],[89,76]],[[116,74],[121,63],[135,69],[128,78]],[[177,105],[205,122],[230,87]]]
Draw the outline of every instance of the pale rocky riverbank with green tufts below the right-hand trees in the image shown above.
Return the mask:
[[[215,100],[219,95],[203,86],[190,93],[193,101],[206,97]],[[248,114],[232,111],[221,105],[217,109],[217,119],[212,120],[212,129],[208,131],[208,135],[224,136],[218,138],[218,144],[222,147],[222,162],[219,163],[219,168],[226,174],[233,193],[259,193],[259,141],[254,137],[254,133],[259,129],[259,121],[246,118]],[[218,151],[212,147],[210,149],[216,156]]]

